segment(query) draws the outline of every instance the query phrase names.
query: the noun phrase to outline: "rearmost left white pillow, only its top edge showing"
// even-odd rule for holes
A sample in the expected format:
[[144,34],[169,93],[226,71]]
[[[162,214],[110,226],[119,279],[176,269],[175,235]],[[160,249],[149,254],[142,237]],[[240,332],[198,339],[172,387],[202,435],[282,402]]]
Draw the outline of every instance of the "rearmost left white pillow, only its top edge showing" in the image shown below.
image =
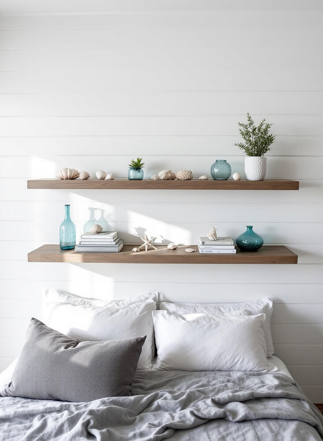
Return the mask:
[[50,302],[72,303],[73,305],[84,306],[126,306],[133,303],[155,302],[158,300],[158,292],[150,292],[149,294],[137,295],[126,300],[101,300],[101,299],[84,299],[76,295],[67,294],[67,292],[58,291],[53,288],[45,288],[43,300],[45,306]]

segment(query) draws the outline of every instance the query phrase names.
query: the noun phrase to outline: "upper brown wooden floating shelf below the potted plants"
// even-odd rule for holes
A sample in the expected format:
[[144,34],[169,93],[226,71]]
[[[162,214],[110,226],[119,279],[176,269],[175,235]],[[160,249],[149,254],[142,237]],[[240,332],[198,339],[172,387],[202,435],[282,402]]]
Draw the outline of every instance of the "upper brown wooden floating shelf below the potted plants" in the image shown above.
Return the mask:
[[154,181],[142,179],[132,181],[126,178],[110,180],[99,179],[32,179],[27,181],[27,188],[61,189],[61,190],[298,190],[299,182],[289,179],[265,179],[264,181]]

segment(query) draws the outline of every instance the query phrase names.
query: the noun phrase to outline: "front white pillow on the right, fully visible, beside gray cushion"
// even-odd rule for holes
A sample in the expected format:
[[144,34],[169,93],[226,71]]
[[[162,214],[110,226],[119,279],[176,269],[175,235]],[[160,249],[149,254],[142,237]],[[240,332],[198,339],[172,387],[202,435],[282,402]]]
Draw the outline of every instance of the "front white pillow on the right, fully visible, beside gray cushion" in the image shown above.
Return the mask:
[[266,358],[265,314],[184,314],[152,312],[157,370],[243,370],[277,368]]

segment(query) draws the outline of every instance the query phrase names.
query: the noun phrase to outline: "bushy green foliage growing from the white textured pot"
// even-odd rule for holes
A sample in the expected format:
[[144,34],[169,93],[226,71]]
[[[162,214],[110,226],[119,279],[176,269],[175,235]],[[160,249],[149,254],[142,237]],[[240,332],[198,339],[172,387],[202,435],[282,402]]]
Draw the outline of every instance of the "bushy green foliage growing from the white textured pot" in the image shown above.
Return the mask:
[[245,140],[245,144],[239,142],[234,145],[243,150],[247,156],[264,156],[270,150],[269,146],[275,141],[275,136],[269,133],[272,124],[266,123],[266,120],[263,119],[256,127],[249,113],[247,113],[247,120],[246,124],[238,123],[239,132]]

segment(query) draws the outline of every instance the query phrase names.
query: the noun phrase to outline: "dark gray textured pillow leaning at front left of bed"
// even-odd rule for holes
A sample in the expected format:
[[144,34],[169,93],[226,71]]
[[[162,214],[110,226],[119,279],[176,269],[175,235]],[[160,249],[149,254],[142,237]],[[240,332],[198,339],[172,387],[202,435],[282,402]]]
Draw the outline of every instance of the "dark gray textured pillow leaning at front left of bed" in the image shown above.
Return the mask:
[[32,318],[11,383],[0,396],[75,402],[129,396],[145,339],[80,342]]

